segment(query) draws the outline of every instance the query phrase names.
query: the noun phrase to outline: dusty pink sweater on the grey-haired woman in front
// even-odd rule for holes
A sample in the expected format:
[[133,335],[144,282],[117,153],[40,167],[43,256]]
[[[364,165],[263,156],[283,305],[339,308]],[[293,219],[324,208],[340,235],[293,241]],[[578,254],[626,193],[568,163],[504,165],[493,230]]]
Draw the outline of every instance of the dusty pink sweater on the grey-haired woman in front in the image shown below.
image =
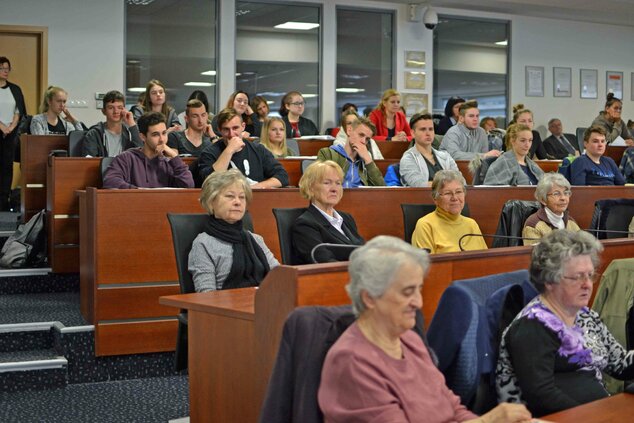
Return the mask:
[[477,416],[445,385],[413,331],[401,336],[403,359],[370,343],[356,323],[326,356],[319,406],[328,422],[461,422]]

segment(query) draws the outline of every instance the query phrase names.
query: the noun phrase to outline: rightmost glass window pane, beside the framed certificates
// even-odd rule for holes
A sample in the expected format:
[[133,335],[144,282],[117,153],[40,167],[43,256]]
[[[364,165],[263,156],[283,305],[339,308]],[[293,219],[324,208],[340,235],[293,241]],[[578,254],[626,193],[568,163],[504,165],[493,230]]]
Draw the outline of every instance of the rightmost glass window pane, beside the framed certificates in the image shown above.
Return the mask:
[[505,126],[508,103],[508,22],[441,16],[434,31],[434,113],[452,96],[476,99],[480,117]]

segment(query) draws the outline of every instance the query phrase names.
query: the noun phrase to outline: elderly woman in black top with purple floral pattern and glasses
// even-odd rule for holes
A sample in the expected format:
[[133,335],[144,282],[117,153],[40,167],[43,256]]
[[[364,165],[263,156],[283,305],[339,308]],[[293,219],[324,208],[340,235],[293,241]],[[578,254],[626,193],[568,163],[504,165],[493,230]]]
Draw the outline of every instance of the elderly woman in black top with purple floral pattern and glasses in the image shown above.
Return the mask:
[[587,232],[565,230],[533,248],[530,279],[540,295],[502,335],[499,400],[523,402],[542,416],[607,397],[601,372],[634,376],[634,351],[619,345],[588,308],[602,248]]

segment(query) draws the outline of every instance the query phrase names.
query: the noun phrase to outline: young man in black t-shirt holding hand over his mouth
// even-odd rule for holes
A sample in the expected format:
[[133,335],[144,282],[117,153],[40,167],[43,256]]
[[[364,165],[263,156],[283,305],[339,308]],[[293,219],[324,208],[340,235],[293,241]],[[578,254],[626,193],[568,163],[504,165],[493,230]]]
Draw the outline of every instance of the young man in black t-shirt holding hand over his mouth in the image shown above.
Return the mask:
[[198,164],[204,180],[213,172],[239,169],[251,188],[279,188],[288,185],[288,173],[273,154],[260,144],[241,137],[245,124],[235,109],[224,109],[216,116],[222,139],[205,148]]

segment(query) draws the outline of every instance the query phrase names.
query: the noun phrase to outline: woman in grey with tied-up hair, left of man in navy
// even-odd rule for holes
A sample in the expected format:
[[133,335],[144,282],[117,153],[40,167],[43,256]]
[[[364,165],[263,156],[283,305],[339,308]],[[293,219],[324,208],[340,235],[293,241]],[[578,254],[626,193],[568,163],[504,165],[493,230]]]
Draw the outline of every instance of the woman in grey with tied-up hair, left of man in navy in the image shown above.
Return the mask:
[[484,185],[537,185],[544,171],[529,157],[532,144],[533,134],[528,126],[509,126],[506,152],[491,163]]

